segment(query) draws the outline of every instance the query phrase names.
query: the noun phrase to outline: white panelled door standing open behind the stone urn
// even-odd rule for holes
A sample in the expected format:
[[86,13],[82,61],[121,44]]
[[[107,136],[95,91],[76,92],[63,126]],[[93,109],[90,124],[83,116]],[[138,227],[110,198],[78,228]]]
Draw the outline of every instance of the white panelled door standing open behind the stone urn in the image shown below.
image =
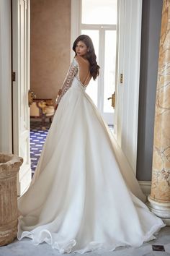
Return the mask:
[[30,0],[12,0],[13,147],[24,162],[17,178],[22,195],[31,182],[30,168]]

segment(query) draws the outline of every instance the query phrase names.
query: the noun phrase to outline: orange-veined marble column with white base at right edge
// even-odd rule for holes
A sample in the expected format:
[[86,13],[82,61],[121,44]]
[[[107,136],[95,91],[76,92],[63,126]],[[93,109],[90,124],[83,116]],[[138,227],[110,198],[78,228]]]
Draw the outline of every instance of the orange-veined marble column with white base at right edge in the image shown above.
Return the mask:
[[162,10],[148,207],[170,225],[170,0],[164,0]]

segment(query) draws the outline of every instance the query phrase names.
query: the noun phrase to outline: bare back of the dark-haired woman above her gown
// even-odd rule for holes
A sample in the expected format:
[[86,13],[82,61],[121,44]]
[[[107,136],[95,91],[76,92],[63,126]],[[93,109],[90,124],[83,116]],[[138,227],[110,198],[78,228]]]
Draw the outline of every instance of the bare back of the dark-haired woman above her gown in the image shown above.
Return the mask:
[[86,86],[91,80],[89,61],[81,56],[76,56],[76,60],[79,64],[79,80],[84,86]]

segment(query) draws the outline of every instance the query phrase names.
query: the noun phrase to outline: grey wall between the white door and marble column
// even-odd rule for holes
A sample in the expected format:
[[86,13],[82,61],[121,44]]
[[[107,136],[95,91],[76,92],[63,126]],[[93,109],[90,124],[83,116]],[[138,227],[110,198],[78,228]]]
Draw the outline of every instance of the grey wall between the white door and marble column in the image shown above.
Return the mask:
[[151,180],[162,0],[143,0],[137,178]]

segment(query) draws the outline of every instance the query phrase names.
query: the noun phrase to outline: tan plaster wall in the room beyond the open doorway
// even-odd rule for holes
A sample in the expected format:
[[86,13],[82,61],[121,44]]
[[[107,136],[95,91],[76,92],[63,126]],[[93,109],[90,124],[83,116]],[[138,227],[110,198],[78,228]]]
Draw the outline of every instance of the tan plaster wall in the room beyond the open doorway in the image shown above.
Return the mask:
[[55,99],[70,64],[71,1],[31,0],[30,20],[30,88]]

